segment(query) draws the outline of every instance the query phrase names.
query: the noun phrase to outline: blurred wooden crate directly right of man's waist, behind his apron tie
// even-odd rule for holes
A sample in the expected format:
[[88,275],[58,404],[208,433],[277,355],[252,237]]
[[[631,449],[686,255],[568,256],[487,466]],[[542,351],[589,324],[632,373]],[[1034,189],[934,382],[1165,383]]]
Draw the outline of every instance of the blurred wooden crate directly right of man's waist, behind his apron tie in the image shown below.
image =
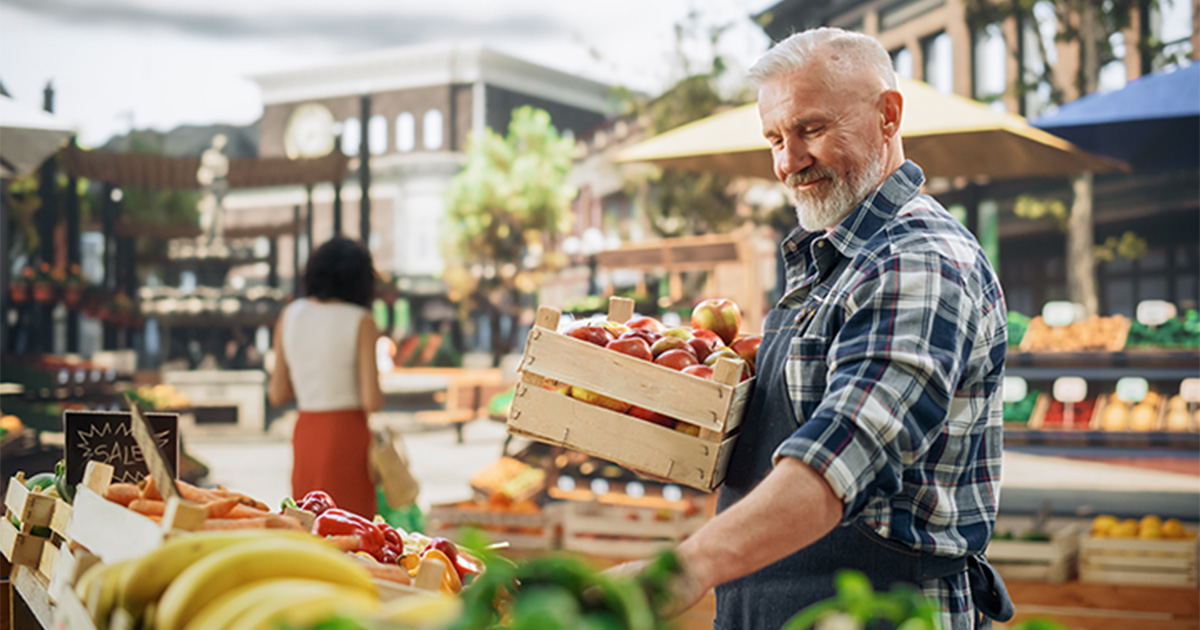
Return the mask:
[[[996,530],[1003,530],[1003,521]],[[1027,532],[1009,528],[1015,540],[995,540],[988,545],[988,562],[1007,580],[1063,583],[1073,577],[1079,556],[1079,527],[1066,524],[1049,532],[1050,540],[1020,540]]]

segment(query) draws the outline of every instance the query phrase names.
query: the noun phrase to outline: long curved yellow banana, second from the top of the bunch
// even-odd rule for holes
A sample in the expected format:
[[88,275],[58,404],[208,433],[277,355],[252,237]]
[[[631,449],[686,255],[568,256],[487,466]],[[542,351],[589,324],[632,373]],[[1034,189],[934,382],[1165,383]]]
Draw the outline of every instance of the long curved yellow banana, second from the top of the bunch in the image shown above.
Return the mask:
[[313,540],[264,539],[230,545],[185,569],[158,599],[157,630],[180,630],[216,598],[272,577],[312,578],[344,584],[378,599],[371,574],[346,553]]

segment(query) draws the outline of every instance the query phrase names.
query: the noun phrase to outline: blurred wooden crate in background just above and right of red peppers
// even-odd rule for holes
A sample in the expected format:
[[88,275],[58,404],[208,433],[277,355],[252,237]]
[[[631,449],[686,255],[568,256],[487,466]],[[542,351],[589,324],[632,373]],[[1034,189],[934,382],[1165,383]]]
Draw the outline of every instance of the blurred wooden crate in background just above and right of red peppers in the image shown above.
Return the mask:
[[430,508],[426,516],[428,535],[460,540],[464,528],[482,529],[497,542],[514,550],[552,550],[558,547],[562,517],[556,506],[527,512],[482,510],[472,502],[444,503]]

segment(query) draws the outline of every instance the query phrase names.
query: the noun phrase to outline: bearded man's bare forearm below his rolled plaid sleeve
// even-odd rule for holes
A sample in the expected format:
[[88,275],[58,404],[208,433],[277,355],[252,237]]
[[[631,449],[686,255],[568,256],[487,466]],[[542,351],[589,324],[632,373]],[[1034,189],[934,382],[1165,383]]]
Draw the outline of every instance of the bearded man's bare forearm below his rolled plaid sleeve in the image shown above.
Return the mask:
[[811,545],[841,522],[844,504],[821,474],[782,457],[749,494],[679,545],[694,583],[679,611],[708,589],[750,575]]

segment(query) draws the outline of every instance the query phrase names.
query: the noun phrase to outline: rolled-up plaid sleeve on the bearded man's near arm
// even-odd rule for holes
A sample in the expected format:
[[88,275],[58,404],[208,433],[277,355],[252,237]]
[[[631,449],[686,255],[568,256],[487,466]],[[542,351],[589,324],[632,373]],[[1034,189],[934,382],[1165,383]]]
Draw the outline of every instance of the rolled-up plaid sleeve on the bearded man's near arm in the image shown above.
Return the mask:
[[898,493],[902,472],[944,430],[977,317],[970,304],[961,270],[941,256],[875,265],[829,341],[824,396],[774,461],[794,457],[822,474],[847,520]]

